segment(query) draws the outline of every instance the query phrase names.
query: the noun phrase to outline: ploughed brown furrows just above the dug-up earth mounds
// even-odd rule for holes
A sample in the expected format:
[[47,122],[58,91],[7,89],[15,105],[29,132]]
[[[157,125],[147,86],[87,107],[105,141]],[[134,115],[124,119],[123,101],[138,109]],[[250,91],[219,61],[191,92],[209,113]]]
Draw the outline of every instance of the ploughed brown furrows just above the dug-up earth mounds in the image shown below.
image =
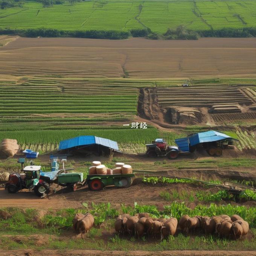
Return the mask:
[[211,107],[221,104],[250,105],[253,101],[247,98],[238,87],[208,86],[192,88],[158,88],[158,105],[162,108],[171,106]]

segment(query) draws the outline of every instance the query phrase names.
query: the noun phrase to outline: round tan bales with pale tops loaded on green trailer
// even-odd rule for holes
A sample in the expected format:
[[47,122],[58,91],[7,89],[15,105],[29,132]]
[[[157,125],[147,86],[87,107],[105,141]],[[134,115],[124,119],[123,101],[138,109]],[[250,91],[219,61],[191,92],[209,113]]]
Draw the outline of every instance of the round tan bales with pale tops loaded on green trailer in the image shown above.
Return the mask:
[[92,166],[89,168],[89,175],[112,175],[112,174],[132,174],[133,168],[125,163],[116,163],[114,169],[107,168],[99,161],[93,161]]

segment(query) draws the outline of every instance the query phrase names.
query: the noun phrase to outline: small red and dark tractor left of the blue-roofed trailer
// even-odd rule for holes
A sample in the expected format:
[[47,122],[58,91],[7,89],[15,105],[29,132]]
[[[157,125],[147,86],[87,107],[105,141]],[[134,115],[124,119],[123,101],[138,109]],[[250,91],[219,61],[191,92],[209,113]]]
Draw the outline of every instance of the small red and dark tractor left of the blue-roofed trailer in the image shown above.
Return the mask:
[[164,139],[155,139],[152,144],[147,144],[146,147],[148,157],[167,156],[169,159],[175,159],[180,153],[177,146],[168,146]]

